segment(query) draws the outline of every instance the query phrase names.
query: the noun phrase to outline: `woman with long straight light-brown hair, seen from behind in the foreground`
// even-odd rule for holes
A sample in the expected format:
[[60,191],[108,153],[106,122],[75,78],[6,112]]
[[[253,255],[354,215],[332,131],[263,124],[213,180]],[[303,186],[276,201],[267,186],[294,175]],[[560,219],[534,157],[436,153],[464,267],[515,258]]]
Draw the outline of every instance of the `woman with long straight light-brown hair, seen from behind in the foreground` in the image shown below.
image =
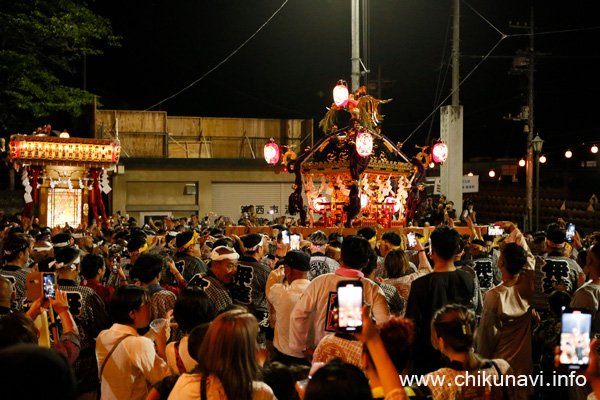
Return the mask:
[[169,399],[275,399],[258,381],[257,336],[258,322],[247,311],[220,314],[206,333],[198,366],[179,377]]

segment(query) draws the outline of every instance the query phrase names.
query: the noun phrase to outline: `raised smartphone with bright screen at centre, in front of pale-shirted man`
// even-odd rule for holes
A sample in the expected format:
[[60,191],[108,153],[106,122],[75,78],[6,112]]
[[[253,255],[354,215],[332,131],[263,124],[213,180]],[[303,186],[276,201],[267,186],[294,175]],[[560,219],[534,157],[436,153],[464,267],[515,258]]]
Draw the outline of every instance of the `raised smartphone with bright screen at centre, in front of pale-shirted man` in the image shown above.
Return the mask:
[[362,331],[363,286],[360,281],[341,281],[337,285],[338,329]]

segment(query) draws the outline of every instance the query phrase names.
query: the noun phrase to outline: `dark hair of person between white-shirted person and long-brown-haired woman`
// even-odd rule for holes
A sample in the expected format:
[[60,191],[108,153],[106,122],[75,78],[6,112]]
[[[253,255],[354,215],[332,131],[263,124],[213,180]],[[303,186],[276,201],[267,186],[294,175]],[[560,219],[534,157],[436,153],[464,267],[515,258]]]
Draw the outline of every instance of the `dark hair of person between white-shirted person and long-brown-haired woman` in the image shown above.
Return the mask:
[[[212,321],[212,302],[204,290],[198,286],[186,287],[173,307],[173,317],[183,332],[190,332],[195,326]],[[191,354],[191,353],[190,353]]]

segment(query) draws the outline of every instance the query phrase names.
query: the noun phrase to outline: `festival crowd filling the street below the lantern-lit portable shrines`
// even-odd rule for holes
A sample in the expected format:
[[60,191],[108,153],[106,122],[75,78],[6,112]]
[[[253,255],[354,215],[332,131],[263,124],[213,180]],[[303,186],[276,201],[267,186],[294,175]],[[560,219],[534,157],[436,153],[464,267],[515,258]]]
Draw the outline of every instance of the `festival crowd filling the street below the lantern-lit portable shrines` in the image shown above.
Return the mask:
[[[294,249],[287,219],[238,237],[227,235],[231,218],[212,215],[140,226],[115,214],[77,228],[2,216],[6,398],[594,396],[596,353],[587,381],[560,385],[570,372],[556,346],[567,308],[591,312],[600,334],[600,236],[569,240],[562,220],[540,232],[499,221],[496,235],[478,235],[471,214],[468,234],[453,215],[415,240],[315,230]],[[36,273],[56,277],[53,297],[32,297]],[[338,327],[348,281],[364,304],[354,333]]]

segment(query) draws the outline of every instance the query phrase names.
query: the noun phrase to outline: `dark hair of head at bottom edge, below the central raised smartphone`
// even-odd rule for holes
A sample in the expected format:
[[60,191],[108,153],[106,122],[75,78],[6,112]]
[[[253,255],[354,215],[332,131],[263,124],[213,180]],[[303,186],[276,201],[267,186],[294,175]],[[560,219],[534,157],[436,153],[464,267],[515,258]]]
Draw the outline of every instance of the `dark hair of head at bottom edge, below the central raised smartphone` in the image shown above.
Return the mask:
[[[344,243],[346,241],[344,240]],[[333,359],[319,368],[306,387],[304,400],[367,400],[373,394],[369,380],[355,365]]]

